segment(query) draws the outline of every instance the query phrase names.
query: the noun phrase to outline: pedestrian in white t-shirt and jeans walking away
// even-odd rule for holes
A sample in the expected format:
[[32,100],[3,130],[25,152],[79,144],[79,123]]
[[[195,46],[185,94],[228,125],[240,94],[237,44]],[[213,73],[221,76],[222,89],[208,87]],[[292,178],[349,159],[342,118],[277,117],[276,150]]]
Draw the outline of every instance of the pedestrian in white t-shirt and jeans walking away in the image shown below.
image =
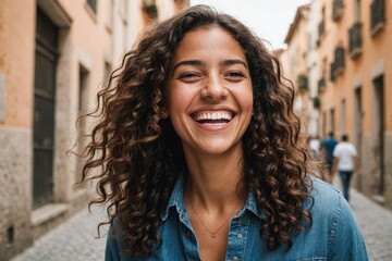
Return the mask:
[[[342,189],[344,198],[350,200],[350,182],[353,173],[360,174],[358,167],[358,157],[355,146],[348,142],[348,135],[342,136],[342,141],[336,145],[333,150],[333,165],[332,173],[339,171],[342,181]],[[333,177],[333,176],[332,176]]]

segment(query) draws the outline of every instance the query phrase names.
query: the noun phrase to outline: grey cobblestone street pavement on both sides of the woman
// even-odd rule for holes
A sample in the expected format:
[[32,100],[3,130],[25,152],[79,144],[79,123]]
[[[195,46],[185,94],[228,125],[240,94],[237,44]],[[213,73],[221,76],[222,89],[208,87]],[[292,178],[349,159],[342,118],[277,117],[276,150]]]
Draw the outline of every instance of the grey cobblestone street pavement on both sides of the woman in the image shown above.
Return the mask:
[[[339,184],[336,185],[339,186]],[[364,235],[369,260],[392,260],[392,212],[376,204],[355,189],[351,207]],[[35,241],[34,246],[12,261],[99,261],[103,260],[106,237],[96,239],[96,226],[105,220],[101,210],[93,214],[83,210],[68,222]],[[107,226],[101,229],[107,233]]]

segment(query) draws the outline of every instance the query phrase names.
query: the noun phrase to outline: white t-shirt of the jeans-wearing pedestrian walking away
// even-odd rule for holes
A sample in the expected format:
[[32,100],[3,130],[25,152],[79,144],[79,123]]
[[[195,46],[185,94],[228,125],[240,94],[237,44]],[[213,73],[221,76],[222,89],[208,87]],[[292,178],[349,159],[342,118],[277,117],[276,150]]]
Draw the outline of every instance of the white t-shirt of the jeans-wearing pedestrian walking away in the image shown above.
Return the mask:
[[357,157],[357,151],[354,145],[342,141],[336,145],[333,150],[333,157],[339,159],[338,171],[354,171],[354,157]]

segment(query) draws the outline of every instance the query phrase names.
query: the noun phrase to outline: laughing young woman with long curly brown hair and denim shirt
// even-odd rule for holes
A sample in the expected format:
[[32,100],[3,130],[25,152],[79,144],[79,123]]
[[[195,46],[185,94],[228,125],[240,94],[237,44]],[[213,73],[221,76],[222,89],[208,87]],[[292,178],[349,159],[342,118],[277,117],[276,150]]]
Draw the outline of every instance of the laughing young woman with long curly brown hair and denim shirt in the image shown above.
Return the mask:
[[233,17],[158,24],[98,99],[83,179],[109,203],[107,260],[367,260],[347,202],[309,175],[279,61]]

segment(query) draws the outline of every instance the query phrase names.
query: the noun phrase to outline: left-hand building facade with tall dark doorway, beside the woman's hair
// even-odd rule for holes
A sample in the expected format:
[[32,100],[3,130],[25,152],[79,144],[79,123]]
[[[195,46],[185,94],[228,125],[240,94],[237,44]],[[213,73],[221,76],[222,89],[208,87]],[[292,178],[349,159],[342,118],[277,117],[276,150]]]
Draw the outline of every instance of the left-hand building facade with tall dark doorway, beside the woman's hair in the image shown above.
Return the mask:
[[[86,207],[77,117],[150,23],[186,0],[0,2],[0,260]],[[75,149],[75,148],[74,148]],[[82,148],[76,147],[76,151]]]

